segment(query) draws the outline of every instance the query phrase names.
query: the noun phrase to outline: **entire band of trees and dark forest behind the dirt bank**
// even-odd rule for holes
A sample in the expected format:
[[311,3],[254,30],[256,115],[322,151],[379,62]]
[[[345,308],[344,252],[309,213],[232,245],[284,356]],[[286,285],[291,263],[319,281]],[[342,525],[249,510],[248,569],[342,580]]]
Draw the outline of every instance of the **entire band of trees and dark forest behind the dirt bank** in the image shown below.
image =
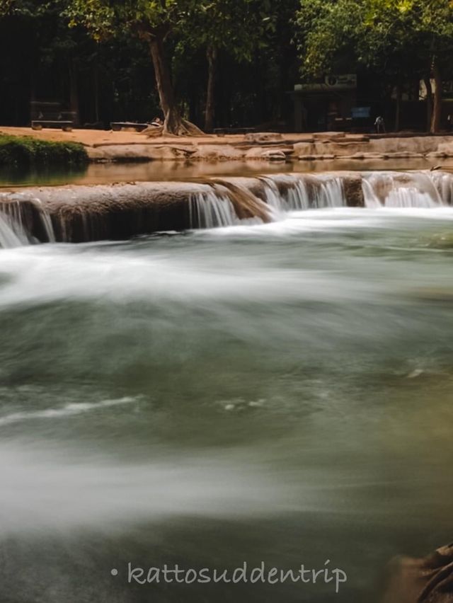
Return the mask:
[[29,125],[35,100],[78,125],[291,130],[294,84],[356,73],[357,103],[391,107],[396,130],[424,81],[436,132],[452,56],[451,0],[0,0],[0,123]]

